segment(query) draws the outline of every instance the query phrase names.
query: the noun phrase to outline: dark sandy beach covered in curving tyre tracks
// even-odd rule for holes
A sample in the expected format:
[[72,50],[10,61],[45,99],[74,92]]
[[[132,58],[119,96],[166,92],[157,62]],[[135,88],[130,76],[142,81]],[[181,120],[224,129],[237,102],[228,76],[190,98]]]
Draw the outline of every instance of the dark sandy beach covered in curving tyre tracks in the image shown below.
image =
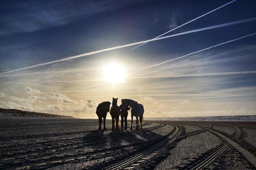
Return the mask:
[[94,119],[1,118],[0,168],[255,169],[253,122],[146,120],[139,131],[112,131],[108,120],[106,128]]

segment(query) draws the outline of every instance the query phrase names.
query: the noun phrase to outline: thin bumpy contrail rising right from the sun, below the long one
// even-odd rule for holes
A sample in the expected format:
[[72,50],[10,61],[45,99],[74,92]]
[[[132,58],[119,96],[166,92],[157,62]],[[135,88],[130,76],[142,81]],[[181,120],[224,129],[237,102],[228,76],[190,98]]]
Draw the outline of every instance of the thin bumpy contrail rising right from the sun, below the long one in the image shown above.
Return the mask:
[[135,73],[135,72],[138,72],[138,71],[142,71],[142,70],[145,70],[145,69],[148,69],[148,68],[152,68],[152,67],[155,67],[155,66],[158,66],[158,65],[161,65],[161,64],[169,63],[170,61],[174,61],[174,60],[178,60],[178,59],[180,59],[180,58],[188,57],[188,56],[191,56],[191,55],[193,55],[193,54],[200,53],[200,52],[203,52],[203,51],[206,51],[206,50],[209,50],[209,49],[212,49],[212,48],[215,48],[215,47],[224,45],[224,44],[228,44],[228,43],[230,43],[230,42],[237,41],[237,40],[242,39],[242,38],[251,37],[251,36],[253,36],[253,35],[256,35],[256,33],[249,34],[249,35],[245,35],[245,36],[243,36],[243,37],[236,38],[236,39],[232,39],[232,40],[229,40],[229,41],[226,41],[226,42],[222,42],[221,44],[217,44],[217,45],[214,45],[214,46],[211,46],[211,47],[208,47],[208,48],[205,48],[205,49],[202,49],[202,50],[193,52],[193,53],[189,53],[189,54],[186,54],[186,55],[184,55],[184,56],[181,56],[181,57],[178,57],[178,58],[174,58],[174,59],[172,59],[172,60],[167,60],[167,61],[164,61],[164,62],[162,62],[162,63],[154,64],[154,65],[151,65],[151,66],[149,66],[149,67],[146,67],[146,68],[143,68],[143,69],[139,69],[139,70],[134,71],[134,72],[131,72],[131,73]]

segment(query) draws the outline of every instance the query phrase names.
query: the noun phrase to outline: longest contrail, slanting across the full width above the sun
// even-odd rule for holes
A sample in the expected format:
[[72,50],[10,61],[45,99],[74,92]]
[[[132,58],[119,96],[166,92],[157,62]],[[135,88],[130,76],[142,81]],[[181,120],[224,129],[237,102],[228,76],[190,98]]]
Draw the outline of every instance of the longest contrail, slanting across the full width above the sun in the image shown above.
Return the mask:
[[184,35],[184,34],[189,34],[189,33],[195,33],[195,32],[199,32],[199,31],[203,31],[203,30],[210,30],[210,29],[215,29],[215,28],[219,28],[219,27],[225,27],[225,26],[230,26],[230,25],[234,25],[234,24],[239,24],[239,23],[251,22],[251,21],[254,21],[254,20],[256,20],[256,18],[250,18],[250,19],[245,19],[245,20],[239,20],[239,21],[230,22],[230,23],[225,23],[225,24],[220,24],[220,25],[216,25],[216,26],[210,26],[210,27],[206,27],[206,28],[202,28],[202,29],[196,29],[196,30],[191,30],[191,31],[185,31],[185,32],[183,32],[183,33],[168,35],[168,36],[165,36],[165,37],[160,37],[160,38],[155,38],[155,39],[149,39],[149,40],[139,41],[139,42],[134,42],[134,43],[131,43],[131,44],[116,46],[116,47],[112,47],[112,48],[106,48],[106,49],[97,50],[97,51],[93,51],[93,52],[89,52],[89,53],[79,54],[79,55],[76,55],[76,56],[71,56],[71,57],[67,57],[67,58],[62,58],[62,59],[60,59],[60,60],[54,60],[54,61],[50,61],[50,62],[46,62],[46,63],[35,64],[35,65],[28,66],[28,67],[18,68],[18,69],[14,69],[14,70],[7,71],[7,72],[2,72],[2,73],[0,73],[0,75],[1,75],[1,74],[6,74],[6,73],[11,73],[11,72],[16,72],[16,71],[21,71],[21,70],[25,70],[25,69],[35,68],[35,67],[39,67],[39,66],[43,66],[43,65],[58,63],[58,62],[61,62],[61,61],[71,60],[71,59],[75,59],[75,58],[80,58],[80,57],[85,57],[85,56],[91,56],[91,55],[93,55],[93,54],[102,53],[102,52],[106,52],[106,51],[110,51],[110,50],[116,50],[116,49],[120,49],[120,48],[126,48],[126,47],[129,47],[129,46],[142,44],[142,43],[144,43],[144,42],[158,41],[158,40],[161,40],[161,39],[171,38],[171,37],[175,37],[175,36],[178,36],[178,35]]

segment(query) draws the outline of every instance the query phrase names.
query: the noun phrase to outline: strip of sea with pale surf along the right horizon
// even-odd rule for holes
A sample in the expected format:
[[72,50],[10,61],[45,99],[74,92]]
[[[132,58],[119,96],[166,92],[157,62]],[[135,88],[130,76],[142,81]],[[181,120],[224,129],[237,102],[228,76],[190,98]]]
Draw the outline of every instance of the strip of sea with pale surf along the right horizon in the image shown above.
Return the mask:
[[207,117],[155,117],[155,118],[145,118],[145,120],[256,122],[256,115],[252,115],[252,116],[207,116]]

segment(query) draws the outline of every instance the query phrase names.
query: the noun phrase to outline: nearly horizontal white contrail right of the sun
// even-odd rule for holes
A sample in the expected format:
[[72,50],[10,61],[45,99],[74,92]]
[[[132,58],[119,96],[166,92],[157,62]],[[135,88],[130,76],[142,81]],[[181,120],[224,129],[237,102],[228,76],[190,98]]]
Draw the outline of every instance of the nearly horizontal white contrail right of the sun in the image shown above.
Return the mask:
[[235,71],[235,72],[202,73],[202,74],[187,74],[187,75],[146,76],[146,77],[132,77],[128,79],[183,78],[183,77],[227,76],[227,75],[245,75],[245,74],[256,74],[256,71]]

